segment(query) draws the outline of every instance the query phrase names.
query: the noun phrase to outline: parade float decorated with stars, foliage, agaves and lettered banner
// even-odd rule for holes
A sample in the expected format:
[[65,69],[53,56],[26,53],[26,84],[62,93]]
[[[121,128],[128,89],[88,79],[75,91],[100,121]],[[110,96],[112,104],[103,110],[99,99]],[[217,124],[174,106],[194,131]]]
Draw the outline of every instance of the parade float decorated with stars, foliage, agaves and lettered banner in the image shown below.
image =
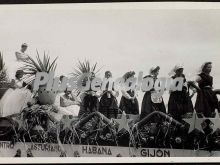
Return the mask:
[[[1,76],[2,59],[0,56]],[[90,71],[94,71],[95,67],[91,67]],[[37,72],[55,71],[55,68],[56,59],[51,62],[44,55],[41,60],[38,55],[37,61],[30,58],[23,70],[32,83]],[[88,71],[89,63],[81,63],[80,68],[75,74],[78,77]],[[79,118],[62,113],[53,104],[56,93],[46,91],[45,86],[39,88],[37,93],[37,101],[29,102],[20,114],[0,118],[1,157],[220,155],[218,111],[213,114],[213,118],[204,118],[193,112],[187,114],[181,122],[158,111],[142,120],[124,112],[117,119],[108,119],[99,112]]]

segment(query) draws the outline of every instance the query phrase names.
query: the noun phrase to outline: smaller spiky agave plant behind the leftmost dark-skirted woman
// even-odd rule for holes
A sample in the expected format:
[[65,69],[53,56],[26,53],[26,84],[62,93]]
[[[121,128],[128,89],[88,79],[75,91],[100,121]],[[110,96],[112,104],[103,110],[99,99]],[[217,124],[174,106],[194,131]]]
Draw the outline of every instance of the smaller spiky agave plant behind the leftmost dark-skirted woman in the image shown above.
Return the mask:
[[[101,68],[97,69],[97,62],[95,64],[91,64],[89,60],[84,60],[83,62],[78,61],[74,72],[71,75],[75,78],[75,81],[78,82],[82,75],[89,75],[90,73],[94,73],[95,75],[101,70]],[[84,77],[86,79],[88,77]],[[80,94],[80,90],[76,87],[75,92],[77,95]]]

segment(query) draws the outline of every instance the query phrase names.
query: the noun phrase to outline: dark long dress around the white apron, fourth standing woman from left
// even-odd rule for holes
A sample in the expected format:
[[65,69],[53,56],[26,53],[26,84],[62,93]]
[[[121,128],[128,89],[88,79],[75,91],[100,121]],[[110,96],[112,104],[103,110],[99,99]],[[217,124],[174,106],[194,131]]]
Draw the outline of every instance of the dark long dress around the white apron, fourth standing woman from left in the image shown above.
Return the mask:
[[[152,77],[151,75],[145,76],[144,78]],[[153,78],[153,77],[152,77]],[[156,81],[156,79],[154,80]],[[155,91],[154,89],[151,89],[150,91],[146,91],[142,100],[142,106],[141,106],[141,116],[140,118],[143,119],[148,114],[152,113],[153,111],[161,111],[166,113],[166,108],[164,105],[164,101],[162,99],[161,103],[154,103],[151,100],[151,92]]]

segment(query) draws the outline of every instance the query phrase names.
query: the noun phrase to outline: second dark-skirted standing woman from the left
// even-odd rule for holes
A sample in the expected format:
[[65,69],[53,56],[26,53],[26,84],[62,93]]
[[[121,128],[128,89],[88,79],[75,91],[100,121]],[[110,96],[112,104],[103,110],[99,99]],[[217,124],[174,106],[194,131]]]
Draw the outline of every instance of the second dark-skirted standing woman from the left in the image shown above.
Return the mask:
[[108,89],[109,84],[111,83],[112,73],[110,71],[105,72],[105,81],[108,81],[106,88],[101,93],[101,99],[99,102],[99,112],[105,115],[107,118],[117,118],[118,115],[118,101],[116,97],[118,92],[114,91],[114,84],[112,85],[113,89]]

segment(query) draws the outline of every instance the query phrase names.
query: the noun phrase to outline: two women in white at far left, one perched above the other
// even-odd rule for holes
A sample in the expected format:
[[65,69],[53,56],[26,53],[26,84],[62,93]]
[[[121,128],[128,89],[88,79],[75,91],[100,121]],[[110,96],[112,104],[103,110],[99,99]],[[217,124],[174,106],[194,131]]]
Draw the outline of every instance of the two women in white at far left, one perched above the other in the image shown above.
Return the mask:
[[13,70],[10,70],[13,78],[10,80],[9,89],[4,93],[0,99],[0,117],[13,116],[19,114],[32,100],[31,86],[24,82],[24,71],[19,68],[22,66],[22,61],[28,59],[25,53],[28,45],[23,43],[20,51],[15,52],[16,64]]

